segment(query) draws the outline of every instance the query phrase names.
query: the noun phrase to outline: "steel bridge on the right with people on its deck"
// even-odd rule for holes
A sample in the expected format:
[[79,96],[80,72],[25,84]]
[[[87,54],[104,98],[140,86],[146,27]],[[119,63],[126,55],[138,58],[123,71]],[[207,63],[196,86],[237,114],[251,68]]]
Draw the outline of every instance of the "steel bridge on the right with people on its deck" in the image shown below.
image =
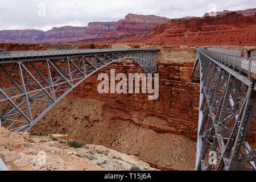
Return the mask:
[[192,81],[200,82],[196,170],[255,170],[256,56],[196,50]]

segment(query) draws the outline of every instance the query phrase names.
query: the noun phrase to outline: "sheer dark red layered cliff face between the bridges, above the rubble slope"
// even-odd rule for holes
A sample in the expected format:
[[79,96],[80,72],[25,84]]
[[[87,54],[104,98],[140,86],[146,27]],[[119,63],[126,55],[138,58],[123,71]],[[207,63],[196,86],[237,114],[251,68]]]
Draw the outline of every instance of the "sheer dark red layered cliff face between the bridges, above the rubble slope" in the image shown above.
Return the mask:
[[[127,76],[142,73],[129,62],[112,64],[100,73],[110,75],[110,68]],[[159,98],[155,101],[148,100],[147,94],[99,94],[97,75],[74,89],[71,96],[104,101],[106,110],[113,109],[139,126],[196,139],[199,84],[190,83],[192,69],[193,63],[159,63]]]

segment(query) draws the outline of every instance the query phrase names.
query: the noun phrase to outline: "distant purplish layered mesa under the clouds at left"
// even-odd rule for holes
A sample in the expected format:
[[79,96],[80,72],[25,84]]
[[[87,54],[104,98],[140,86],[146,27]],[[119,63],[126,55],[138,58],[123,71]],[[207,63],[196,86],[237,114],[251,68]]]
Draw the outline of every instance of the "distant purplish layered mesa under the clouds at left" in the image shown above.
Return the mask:
[[91,22],[88,27],[54,27],[48,31],[41,30],[2,30],[0,42],[72,42],[80,39],[101,39],[118,37],[130,33],[154,30],[158,23],[168,18],[154,15],[129,14],[118,22]]

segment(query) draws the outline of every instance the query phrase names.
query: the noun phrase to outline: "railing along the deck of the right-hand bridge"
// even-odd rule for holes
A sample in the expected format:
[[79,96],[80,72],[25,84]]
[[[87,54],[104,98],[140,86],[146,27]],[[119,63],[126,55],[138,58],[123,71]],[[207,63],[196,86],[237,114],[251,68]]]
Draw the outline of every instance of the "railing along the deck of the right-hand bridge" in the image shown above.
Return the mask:
[[241,57],[240,55],[237,55],[237,53],[232,53],[226,50],[218,51],[216,49],[200,48],[197,49],[197,51],[203,52],[205,55],[229,68],[233,68],[233,71],[246,73],[248,78],[250,78],[251,73],[256,75],[256,59],[252,57]]

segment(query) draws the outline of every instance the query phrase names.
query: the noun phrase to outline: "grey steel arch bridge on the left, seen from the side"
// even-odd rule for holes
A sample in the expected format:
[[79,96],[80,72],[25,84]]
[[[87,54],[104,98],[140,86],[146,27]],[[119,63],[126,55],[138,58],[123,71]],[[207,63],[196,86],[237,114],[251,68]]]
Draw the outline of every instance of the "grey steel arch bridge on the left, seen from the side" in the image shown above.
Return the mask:
[[0,126],[28,131],[100,69],[132,60],[156,73],[158,48],[13,51],[0,55]]

